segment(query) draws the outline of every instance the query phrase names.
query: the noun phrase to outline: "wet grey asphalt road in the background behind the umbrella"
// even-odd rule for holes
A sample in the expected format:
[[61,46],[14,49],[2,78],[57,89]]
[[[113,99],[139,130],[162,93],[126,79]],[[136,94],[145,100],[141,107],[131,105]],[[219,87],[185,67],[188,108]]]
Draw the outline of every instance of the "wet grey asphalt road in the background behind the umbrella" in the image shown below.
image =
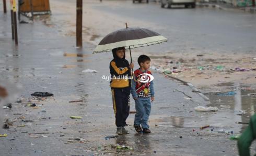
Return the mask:
[[[150,47],[145,51],[256,53],[255,14],[199,7],[186,9],[183,6],[163,9],[154,2],[132,4],[132,1],[103,1],[92,6],[127,19],[128,23],[129,19],[153,23],[156,26],[149,24],[148,28],[170,40],[162,44],[161,49]],[[130,24],[133,26],[133,23]]]

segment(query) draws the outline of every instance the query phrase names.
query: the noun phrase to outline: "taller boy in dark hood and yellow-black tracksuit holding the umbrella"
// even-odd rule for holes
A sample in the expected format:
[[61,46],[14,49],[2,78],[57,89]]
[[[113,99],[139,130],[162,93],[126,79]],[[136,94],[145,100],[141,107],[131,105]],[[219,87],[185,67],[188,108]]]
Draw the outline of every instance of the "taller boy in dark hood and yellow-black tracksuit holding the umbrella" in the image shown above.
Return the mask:
[[127,134],[124,126],[126,126],[126,119],[129,116],[130,111],[130,92],[131,92],[131,80],[127,77],[131,77],[131,69],[133,63],[125,59],[125,48],[115,48],[112,50],[114,59],[110,62],[110,74],[114,79],[110,81],[113,109],[115,114],[115,125],[117,125],[117,134]]

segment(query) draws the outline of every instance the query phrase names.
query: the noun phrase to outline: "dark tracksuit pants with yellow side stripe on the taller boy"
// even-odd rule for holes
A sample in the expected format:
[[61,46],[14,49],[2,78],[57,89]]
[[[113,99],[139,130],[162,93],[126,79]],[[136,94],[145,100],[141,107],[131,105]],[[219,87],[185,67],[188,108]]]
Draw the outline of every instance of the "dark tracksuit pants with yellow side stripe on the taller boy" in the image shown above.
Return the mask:
[[122,88],[112,88],[112,99],[113,99],[113,109],[115,114],[115,125],[117,127],[126,126],[126,119],[129,116],[130,111],[130,90]]

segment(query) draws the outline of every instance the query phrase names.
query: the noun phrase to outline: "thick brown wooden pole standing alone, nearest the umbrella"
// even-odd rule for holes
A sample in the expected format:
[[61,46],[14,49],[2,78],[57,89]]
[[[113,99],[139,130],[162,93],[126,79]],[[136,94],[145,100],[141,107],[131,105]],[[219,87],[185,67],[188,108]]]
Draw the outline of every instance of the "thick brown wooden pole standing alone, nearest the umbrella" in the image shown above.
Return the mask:
[[83,46],[83,0],[76,0],[76,46]]

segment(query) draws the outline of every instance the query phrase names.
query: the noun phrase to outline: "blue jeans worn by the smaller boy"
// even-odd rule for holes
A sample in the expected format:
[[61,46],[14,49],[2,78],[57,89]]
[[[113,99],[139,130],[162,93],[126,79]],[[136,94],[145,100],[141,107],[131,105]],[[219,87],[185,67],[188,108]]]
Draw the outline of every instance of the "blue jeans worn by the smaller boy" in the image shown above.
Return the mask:
[[142,125],[142,128],[149,128],[147,122],[149,119],[149,114],[151,111],[151,102],[150,98],[147,100],[135,100],[135,125]]

